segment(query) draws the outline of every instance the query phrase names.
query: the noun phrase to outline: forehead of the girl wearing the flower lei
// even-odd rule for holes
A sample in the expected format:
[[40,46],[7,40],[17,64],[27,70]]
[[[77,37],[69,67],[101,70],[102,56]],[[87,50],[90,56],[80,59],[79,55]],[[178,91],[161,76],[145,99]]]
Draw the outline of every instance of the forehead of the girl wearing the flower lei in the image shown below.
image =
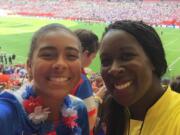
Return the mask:
[[78,50],[80,49],[78,38],[65,30],[48,31],[40,36],[37,41],[37,48],[41,48],[43,45],[52,45],[57,48],[71,46]]

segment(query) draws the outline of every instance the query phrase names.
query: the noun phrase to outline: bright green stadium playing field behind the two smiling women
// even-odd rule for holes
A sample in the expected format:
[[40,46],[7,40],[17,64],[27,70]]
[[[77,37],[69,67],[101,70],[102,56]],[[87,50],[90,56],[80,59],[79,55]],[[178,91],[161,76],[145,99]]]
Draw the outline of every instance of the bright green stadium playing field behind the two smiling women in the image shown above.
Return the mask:
[[[0,17],[0,47],[1,53],[12,54],[17,56],[16,63],[25,63],[28,48],[33,32],[41,26],[48,23],[61,23],[71,28],[72,30],[78,28],[86,28],[95,32],[101,38],[104,23],[83,23],[78,21],[46,19],[46,18],[31,18],[8,16]],[[160,35],[166,51],[168,61],[168,71],[166,76],[172,77],[180,74],[180,29],[174,28],[156,28],[158,33],[163,31]],[[98,55],[90,66],[94,71],[99,72],[100,62]]]

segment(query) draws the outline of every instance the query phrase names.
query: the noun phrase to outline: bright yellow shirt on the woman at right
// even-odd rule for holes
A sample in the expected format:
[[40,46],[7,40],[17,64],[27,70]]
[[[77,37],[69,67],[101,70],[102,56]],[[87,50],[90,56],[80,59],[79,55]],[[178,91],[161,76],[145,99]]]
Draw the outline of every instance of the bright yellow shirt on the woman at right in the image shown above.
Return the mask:
[[148,110],[144,123],[130,120],[129,135],[139,135],[140,130],[140,135],[180,135],[180,94],[169,87]]

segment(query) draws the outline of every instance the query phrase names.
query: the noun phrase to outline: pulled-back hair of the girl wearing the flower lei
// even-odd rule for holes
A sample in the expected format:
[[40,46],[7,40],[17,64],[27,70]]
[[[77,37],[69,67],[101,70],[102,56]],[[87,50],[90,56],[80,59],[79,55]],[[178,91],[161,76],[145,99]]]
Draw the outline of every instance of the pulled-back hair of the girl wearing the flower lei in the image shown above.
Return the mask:
[[70,29],[66,28],[64,25],[61,25],[59,23],[52,23],[52,24],[48,24],[45,25],[43,27],[41,27],[39,30],[37,30],[31,40],[31,45],[30,45],[30,50],[29,50],[29,54],[28,54],[28,59],[31,59],[34,53],[34,50],[37,47],[37,42],[38,40],[46,35],[49,31],[56,31],[56,30],[64,30],[67,31],[69,33],[71,33],[72,35],[74,35],[75,37],[77,37]]

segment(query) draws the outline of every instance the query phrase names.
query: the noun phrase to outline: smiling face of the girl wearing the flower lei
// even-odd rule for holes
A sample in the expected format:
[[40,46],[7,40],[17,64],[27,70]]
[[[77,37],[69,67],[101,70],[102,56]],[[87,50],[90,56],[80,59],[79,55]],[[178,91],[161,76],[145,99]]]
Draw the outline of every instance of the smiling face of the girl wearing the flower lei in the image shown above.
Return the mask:
[[63,30],[45,34],[37,42],[28,71],[37,93],[58,98],[66,96],[80,79],[78,39]]

